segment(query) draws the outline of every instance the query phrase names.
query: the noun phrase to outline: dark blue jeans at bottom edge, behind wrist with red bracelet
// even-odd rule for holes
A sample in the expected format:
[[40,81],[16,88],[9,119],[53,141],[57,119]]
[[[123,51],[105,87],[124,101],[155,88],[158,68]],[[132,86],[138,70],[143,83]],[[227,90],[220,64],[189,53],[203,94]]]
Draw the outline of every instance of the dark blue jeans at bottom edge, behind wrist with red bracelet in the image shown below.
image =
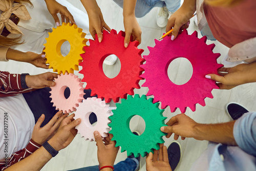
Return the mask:
[[[124,161],[120,161],[114,165],[114,169],[115,171],[134,171],[137,168],[137,162],[135,162],[135,160],[126,158]],[[99,171],[99,166],[89,166],[69,171]]]

